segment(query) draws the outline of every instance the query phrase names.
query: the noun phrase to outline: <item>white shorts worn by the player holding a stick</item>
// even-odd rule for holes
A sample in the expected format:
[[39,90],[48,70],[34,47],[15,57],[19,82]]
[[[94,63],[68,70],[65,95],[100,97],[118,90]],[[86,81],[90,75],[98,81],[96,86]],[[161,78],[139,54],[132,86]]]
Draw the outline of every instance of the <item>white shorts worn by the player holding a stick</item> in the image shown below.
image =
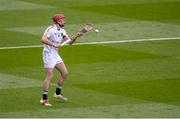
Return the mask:
[[43,52],[44,68],[54,68],[56,64],[62,63],[63,60],[58,53]]

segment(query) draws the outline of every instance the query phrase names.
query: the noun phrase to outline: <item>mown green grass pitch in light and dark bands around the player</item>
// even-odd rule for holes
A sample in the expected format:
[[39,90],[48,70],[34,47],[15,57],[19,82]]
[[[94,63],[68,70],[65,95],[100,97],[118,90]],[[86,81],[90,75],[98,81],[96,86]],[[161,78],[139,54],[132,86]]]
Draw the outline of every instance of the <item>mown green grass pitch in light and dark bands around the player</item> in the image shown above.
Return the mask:
[[[0,0],[0,117],[180,117],[179,8],[179,0]],[[80,43],[177,39],[63,47],[69,101],[52,96],[55,71],[53,106],[44,107],[42,47],[5,47],[41,45],[58,12],[66,15],[69,35],[86,22],[100,29]]]

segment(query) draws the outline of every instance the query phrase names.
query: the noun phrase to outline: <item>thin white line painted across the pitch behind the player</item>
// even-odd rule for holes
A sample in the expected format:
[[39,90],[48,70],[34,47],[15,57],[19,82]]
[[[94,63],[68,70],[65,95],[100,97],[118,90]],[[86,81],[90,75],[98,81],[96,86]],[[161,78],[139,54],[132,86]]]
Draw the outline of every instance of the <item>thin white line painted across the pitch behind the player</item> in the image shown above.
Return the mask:
[[[132,42],[145,42],[145,41],[177,40],[177,39],[180,39],[180,37],[135,39],[135,40],[120,40],[120,41],[102,41],[102,42],[86,42],[86,43],[75,43],[75,44],[73,44],[73,45],[94,45],[94,44],[132,43]],[[0,50],[6,50],[6,49],[22,49],[22,48],[38,48],[38,47],[43,47],[43,45],[0,47]]]

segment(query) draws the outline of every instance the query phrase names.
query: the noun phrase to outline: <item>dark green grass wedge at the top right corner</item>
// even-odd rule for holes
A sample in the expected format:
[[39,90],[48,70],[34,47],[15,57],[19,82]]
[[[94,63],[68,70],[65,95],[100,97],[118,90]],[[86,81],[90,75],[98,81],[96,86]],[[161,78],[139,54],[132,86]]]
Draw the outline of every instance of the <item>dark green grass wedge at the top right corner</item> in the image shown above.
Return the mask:
[[[106,6],[74,7],[89,12],[99,12],[103,14],[121,16],[130,19],[161,21],[179,24],[180,2],[160,2],[160,3],[143,3],[143,4],[118,4]],[[173,20],[173,22],[171,22]],[[174,22],[177,20],[177,22]]]

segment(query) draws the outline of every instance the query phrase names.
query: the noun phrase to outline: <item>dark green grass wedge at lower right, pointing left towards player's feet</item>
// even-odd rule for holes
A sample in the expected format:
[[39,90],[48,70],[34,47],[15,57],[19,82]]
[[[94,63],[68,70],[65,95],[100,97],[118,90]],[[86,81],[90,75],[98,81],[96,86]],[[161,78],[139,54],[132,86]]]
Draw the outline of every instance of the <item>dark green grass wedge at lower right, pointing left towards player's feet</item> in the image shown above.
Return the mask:
[[[180,88],[176,87],[177,83],[179,83],[179,79],[77,84],[77,87],[152,102],[179,105]],[[151,90],[152,87],[153,90]],[[169,89],[169,87],[171,88]]]

